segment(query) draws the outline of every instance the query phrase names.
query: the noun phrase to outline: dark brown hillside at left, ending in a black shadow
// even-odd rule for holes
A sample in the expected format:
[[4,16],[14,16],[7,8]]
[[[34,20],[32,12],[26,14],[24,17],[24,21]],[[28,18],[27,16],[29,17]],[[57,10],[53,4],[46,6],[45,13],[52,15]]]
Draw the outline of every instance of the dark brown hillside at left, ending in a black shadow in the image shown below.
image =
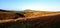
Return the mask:
[[12,12],[8,10],[2,10],[0,9],[0,20],[4,19],[16,19],[19,17],[25,17],[24,14],[18,13],[18,12]]

